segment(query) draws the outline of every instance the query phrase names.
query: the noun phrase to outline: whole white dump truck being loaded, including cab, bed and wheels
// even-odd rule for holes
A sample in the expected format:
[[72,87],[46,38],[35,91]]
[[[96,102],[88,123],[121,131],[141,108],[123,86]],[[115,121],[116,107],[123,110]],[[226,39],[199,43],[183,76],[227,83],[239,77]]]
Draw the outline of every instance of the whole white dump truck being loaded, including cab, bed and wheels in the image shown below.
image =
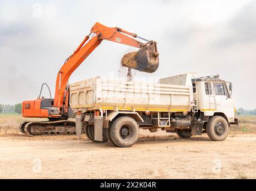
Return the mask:
[[195,78],[186,73],[157,83],[96,77],[70,84],[70,106],[77,135],[85,128],[95,142],[130,147],[139,129],[182,138],[207,133],[211,140],[222,141],[230,125],[238,125],[231,94],[231,82],[219,75]]

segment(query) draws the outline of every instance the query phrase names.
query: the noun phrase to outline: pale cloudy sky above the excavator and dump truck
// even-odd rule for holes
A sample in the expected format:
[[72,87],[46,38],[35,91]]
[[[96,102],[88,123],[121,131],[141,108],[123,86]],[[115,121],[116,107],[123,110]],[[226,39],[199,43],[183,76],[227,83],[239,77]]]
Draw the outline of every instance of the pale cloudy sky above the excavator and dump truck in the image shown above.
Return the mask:
[[[0,103],[34,100],[44,82],[54,94],[59,69],[97,21],[158,42],[158,70],[135,78],[219,74],[232,82],[237,108],[256,108],[252,0],[0,0]],[[135,49],[102,42],[69,82],[124,76],[120,61],[129,51]]]

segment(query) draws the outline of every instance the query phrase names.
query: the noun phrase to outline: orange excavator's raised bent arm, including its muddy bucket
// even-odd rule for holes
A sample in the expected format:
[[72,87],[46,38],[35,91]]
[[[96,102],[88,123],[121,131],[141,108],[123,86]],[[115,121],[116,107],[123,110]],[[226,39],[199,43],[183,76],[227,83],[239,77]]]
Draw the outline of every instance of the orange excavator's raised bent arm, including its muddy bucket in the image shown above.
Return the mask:
[[[92,35],[93,34],[93,35]],[[92,38],[89,40],[90,36]],[[140,48],[140,51],[128,53],[122,59],[122,65],[144,72],[154,72],[158,67],[158,53],[156,42],[148,41],[146,44],[135,40],[141,38],[134,33],[120,29],[118,27],[106,27],[103,24],[95,23],[91,33],[85,37],[83,42],[77,47],[76,51],[67,59],[59,70],[56,79],[55,98],[53,106],[61,108],[64,106],[64,94],[68,79],[77,67],[85,60],[103,40],[117,42]],[[147,41],[146,39],[143,39]],[[61,111],[59,111],[61,112]]]

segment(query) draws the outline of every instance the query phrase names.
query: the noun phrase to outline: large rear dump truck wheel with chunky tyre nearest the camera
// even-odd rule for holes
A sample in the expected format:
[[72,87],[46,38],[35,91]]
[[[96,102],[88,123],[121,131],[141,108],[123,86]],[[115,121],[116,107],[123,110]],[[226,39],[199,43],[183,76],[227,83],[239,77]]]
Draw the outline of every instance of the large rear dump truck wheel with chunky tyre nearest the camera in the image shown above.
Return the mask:
[[138,124],[129,117],[116,119],[110,127],[110,139],[118,147],[130,147],[138,140]]

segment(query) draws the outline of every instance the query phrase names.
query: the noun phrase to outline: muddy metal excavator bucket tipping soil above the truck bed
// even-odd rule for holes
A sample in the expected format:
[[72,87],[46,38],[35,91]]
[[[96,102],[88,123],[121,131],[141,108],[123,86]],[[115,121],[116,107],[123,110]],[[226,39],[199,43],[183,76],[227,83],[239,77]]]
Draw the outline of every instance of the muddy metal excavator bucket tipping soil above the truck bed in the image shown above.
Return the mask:
[[141,72],[153,73],[159,66],[158,52],[156,50],[156,42],[150,41],[140,50],[125,54],[122,58],[122,66]]

